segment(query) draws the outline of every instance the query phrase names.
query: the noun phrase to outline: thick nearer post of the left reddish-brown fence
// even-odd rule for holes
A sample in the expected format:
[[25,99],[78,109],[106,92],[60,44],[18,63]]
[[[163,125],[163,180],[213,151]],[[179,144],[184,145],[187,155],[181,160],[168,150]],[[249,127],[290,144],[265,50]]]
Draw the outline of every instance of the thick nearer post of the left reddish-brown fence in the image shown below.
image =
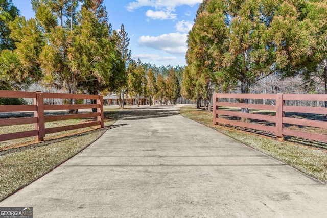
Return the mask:
[[39,131],[38,136],[36,136],[36,141],[44,141],[45,136],[45,124],[44,124],[44,102],[43,93],[36,92],[36,99],[34,99],[34,105],[36,105],[36,111],[34,111],[34,116],[37,117],[37,123],[35,124],[35,129]]

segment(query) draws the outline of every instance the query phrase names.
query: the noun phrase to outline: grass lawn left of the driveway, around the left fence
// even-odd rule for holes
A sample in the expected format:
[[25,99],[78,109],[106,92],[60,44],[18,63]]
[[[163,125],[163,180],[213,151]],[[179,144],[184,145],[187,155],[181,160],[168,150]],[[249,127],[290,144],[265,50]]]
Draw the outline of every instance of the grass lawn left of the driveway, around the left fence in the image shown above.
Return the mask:
[[[120,115],[125,113],[129,113],[129,111],[105,109],[106,127],[103,129],[84,128],[51,134],[45,138],[44,142],[40,143],[31,143],[34,140],[33,137],[1,142],[0,147],[2,148],[20,143],[31,144],[26,147],[0,151],[0,201],[82,151],[97,140]],[[65,120],[50,125],[66,126],[84,121],[80,119]],[[20,126],[23,127],[6,127],[2,130],[17,132],[17,128],[22,128],[21,131],[27,128],[25,125]]]

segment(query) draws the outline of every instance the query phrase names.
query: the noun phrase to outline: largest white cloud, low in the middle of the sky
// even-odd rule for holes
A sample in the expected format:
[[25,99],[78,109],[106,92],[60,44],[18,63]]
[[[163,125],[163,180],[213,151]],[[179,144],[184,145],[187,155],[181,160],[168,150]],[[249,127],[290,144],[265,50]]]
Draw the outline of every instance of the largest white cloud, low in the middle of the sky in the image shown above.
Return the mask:
[[162,50],[169,54],[185,55],[187,49],[186,40],[188,34],[169,33],[160,36],[141,36],[138,44],[152,49]]

